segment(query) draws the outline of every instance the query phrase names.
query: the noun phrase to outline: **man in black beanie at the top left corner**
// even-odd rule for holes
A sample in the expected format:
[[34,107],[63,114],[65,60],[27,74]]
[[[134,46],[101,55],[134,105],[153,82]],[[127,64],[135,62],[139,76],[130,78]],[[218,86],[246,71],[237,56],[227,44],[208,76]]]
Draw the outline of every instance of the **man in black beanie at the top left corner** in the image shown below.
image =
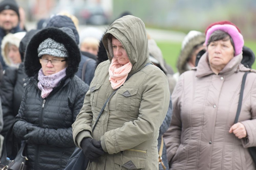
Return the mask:
[[[15,0],[3,0],[0,2],[0,46],[3,37],[8,33],[17,33],[23,31],[19,27],[19,6]],[[0,62],[3,70],[6,65],[3,61],[0,49]]]

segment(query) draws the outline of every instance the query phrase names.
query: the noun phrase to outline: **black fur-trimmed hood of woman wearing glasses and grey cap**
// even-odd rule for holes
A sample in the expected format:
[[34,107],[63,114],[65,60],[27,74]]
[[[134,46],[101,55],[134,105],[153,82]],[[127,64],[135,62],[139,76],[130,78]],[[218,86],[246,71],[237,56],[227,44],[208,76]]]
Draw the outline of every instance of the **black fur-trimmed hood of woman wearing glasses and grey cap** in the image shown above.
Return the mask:
[[75,36],[70,28],[54,28],[49,27],[42,29],[35,34],[28,43],[25,52],[25,72],[29,77],[38,73],[42,67],[38,57],[38,47],[47,38],[63,44],[68,50],[68,66],[66,70],[66,77],[70,78],[75,75],[81,61],[80,50],[76,44]]

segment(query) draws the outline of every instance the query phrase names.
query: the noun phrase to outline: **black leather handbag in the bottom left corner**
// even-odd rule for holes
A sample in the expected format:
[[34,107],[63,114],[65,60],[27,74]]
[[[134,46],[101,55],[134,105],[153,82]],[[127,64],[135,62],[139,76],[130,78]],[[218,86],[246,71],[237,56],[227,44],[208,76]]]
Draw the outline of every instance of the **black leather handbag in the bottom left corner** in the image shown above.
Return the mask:
[[[25,148],[26,148],[26,143],[25,141],[22,141],[20,148],[18,147],[18,140],[15,137],[15,135],[12,132],[13,125],[9,129],[6,137],[4,138],[3,142],[3,154],[1,157],[1,162],[0,162],[0,168],[1,170],[27,170],[26,162],[28,161],[28,158],[24,156]],[[12,155],[7,157],[6,153],[6,146],[7,143],[12,137]],[[19,149],[18,149],[19,148]],[[13,160],[10,158],[15,157]]]

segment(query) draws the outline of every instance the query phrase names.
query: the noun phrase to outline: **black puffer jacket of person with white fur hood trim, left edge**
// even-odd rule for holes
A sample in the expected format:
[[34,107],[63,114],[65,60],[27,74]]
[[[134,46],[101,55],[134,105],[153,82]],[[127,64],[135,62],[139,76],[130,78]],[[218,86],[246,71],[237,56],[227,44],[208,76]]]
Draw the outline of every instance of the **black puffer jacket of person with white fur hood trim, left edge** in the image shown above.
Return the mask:
[[[19,45],[19,52],[22,61],[24,61],[24,53],[26,46],[31,37],[37,33],[37,30],[30,30],[22,38]],[[24,63],[19,68],[8,67],[3,76],[3,83],[0,88],[3,110],[3,130],[1,135],[5,136],[14,122],[15,116],[18,114],[23,91],[27,85],[28,76],[24,70]]]

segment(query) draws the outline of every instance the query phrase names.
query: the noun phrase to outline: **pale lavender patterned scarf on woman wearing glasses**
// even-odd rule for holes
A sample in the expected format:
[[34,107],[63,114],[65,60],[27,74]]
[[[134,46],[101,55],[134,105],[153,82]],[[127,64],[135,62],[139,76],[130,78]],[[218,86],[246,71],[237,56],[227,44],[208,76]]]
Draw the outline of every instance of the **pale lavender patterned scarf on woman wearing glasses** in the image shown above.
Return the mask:
[[41,97],[44,99],[46,98],[53,88],[58,85],[60,80],[66,76],[66,68],[63,70],[52,74],[52,75],[44,75],[42,68],[38,72],[38,88],[42,91]]

